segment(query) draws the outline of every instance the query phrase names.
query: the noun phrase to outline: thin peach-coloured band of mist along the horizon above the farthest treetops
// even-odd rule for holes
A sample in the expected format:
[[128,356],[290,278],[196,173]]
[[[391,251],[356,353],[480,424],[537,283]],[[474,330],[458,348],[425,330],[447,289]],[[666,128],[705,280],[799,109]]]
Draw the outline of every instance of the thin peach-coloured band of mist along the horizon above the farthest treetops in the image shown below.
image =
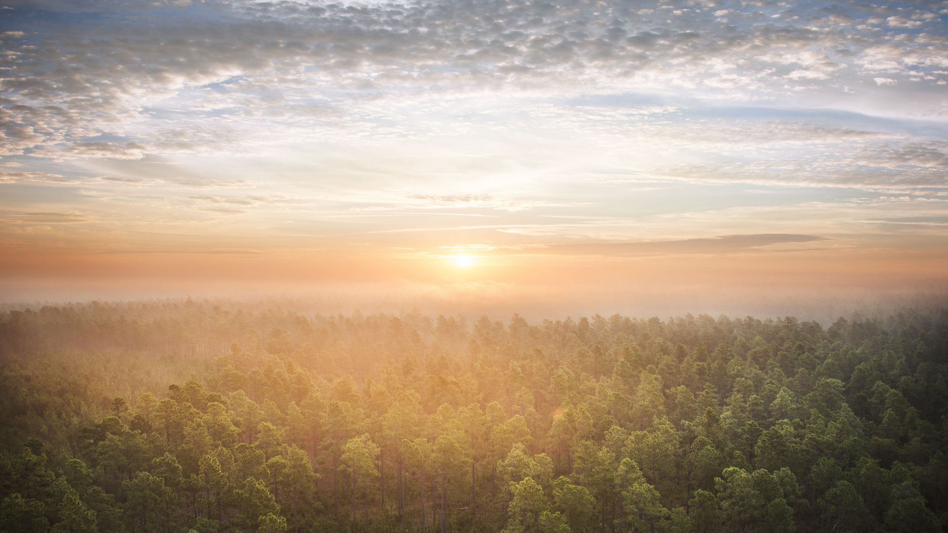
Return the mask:
[[500,282],[452,284],[194,284],[186,287],[115,280],[70,288],[59,283],[6,287],[3,308],[38,308],[63,303],[169,301],[252,303],[307,315],[353,312],[397,314],[416,310],[425,315],[481,316],[505,321],[514,314],[531,322],[611,316],[681,317],[688,314],[733,318],[795,317],[830,325],[853,314],[883,316],[895,310],[948,305],[948,291],[938,285],[909,287],[761,287],[665,285],[604,286],[602,284],[518,285]]

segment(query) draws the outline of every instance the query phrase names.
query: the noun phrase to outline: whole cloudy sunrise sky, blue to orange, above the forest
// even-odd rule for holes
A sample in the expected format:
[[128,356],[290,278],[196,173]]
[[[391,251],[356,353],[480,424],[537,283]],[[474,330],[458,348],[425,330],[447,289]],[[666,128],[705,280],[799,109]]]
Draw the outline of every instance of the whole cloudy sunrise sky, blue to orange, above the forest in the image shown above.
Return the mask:
[[937,293],[946,20],[939,1],[0,1],[0,298]]

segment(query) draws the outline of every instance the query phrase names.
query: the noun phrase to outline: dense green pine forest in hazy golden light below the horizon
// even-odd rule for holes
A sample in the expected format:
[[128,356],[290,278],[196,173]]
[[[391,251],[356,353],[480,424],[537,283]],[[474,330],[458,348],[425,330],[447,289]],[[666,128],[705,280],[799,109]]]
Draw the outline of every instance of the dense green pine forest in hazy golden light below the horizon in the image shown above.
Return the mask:
[[938,532],[948,312],[0,313],[0,531]]

